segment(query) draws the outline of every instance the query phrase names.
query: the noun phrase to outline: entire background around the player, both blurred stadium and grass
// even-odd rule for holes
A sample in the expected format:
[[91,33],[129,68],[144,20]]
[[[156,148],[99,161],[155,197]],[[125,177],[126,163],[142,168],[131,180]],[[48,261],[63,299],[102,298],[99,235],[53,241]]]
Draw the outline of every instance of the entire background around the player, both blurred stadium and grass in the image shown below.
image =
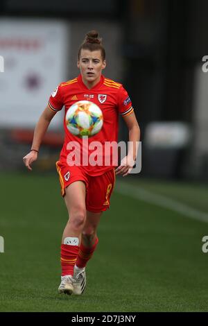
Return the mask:
[[[1,311],[207,311],[207,6],[205,0],[1,1]],[[65,298],[56,293],[67,221],[55,174],[61,114],[33,173],[22,157],[53,89],[77,76],[78,46],[92,29],[103,37],[105,76],[123,83],[132,98],[142,170],[118,178],[86,292]],[[120,123],[119,139],[127,140]]]

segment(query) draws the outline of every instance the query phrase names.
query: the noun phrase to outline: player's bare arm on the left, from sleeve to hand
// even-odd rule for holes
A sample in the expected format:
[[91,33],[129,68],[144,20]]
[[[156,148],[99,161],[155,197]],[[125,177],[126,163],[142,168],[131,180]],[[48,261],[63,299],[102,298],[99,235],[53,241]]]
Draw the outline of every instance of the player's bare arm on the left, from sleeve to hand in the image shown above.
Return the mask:
[[51,110],[49,105],[47,105],[44,112],[42,112],[40,119],[37,121],[33,136],[33,144],[31,146],[31,149],[35,149],[35,151],[30,151],[23,157],[23,162],[29,171],[32,171],[31,164],[37,160],[38,153],[36,151],[39,151],[40,144],[42,143],[46,130],[48,129],[49,124],[56,113],[57,111]]

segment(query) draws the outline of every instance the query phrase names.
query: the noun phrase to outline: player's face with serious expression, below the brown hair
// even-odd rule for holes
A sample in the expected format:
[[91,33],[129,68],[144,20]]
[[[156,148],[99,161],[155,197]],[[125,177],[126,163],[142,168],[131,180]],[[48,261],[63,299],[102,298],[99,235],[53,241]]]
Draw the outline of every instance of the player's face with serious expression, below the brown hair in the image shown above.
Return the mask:
[[94,86],[100,80],[106,62],[102,59],[101,50],[89,51],[82,49],[77,65],[83,77],[83,82],[87,85]]

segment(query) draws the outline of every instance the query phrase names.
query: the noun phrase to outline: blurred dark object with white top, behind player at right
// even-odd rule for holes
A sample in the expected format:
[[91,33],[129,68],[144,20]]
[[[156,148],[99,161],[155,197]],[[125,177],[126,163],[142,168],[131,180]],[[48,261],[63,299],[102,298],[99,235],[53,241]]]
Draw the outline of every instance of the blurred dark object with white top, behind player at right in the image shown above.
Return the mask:
[[185,123],[149,123],[144,135],[144,174],[159,178],[181,178],[190,139],[191,131]]

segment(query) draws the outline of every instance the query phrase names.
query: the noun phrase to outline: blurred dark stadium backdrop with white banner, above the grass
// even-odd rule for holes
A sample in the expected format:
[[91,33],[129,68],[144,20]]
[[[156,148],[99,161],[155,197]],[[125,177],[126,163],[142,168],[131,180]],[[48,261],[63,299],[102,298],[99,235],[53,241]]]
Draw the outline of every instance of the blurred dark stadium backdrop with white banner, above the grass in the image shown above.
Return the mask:
[[[208,55],[207,9],[206,0],[1,1],[0,55],[5,72],[0,73],[0,169],[23,169],[21,157],[30,148],[37,116],[56,85],[78,74],[78,46],[87,31],[96,29],[107,52],[105,75],[123,83],[134,103],[144,142],[141,175],[208,180],[208,73],[202,71],[202,57]],[[35,50],[26,58],[24,53],[21,60],[17,44],[11,44],[9,30],[15,35],[12,24],[17,19],[24,23],[22,35],[36,23],[40,40],[44,35],[46,44],[51,42],[51,51],[42,52],[42,68],[37,60],[42,54],[35,56]],[[15,67],[18,56],[20,70]],[[16,96],[11,85],[16,91],[19,87]],[[26,91],[25,85],[31,90]],[[41,96],[37,96],[38,87]],[[33,98],[31,105],[28,94]],[[26,123],[20,118],[15,123],[18,108],[25,112]],[[121,127],[120,138],[127,139],[123,121]],[[40,169],[51,169],[58,157],[61,114],[51,132],[44,139]]]

